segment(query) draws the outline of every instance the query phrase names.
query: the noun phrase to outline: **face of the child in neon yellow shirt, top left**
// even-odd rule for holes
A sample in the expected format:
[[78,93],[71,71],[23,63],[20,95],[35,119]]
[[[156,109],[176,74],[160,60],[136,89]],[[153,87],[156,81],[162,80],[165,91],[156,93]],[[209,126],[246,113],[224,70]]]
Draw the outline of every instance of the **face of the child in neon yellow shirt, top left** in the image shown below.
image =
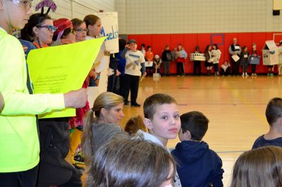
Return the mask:
[[6,18],[12,27],[23,29],[30,19],[30,15],[32,15],[31,0],[0,0],[0,13],[0,17],[3,16],[4,19]]

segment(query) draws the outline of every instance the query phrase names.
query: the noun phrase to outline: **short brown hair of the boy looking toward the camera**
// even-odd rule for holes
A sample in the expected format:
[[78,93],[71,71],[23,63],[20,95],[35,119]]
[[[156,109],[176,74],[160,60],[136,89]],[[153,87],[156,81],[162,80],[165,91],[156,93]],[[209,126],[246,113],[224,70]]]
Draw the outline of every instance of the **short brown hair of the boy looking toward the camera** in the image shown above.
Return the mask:
[[146,98],[143,105],[145,118],[152,120],[159,105],[171,103],[177,104],[176,100],[173,97],[165,93],[155,93],[154,95],[149,96],[148,98]]

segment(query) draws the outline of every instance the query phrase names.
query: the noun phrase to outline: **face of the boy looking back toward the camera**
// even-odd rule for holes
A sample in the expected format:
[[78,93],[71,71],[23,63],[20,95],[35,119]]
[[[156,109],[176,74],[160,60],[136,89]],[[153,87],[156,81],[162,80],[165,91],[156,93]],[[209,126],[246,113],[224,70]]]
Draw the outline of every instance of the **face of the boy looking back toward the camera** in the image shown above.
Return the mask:
[[179,110],[176,103],[158,105],[150,124],[146,125],[149,133],[161,142],[175,139],[181,127]]

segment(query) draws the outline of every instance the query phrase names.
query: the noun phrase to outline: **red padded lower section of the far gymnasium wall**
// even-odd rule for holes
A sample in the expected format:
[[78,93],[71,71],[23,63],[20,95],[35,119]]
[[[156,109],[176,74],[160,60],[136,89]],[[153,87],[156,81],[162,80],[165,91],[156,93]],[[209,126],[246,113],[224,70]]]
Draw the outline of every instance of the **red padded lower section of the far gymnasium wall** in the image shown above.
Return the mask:
[[[257,51],[259,56],[262,55],[262,48],[264,41],[274,39],[276,43],[282,39],[282,32],[240,32],[240,33],[202,33],[202,34],[129,34],[128,39],[136,39],[138,46],[146,44],[152,46],[154,54],[161,56],[164,46],[168,44],[171,50],[178,44],[185,47],[185,51],[190,53],[195,51],[195,46],[200,46],[200,51],[204,51],[207,44],[219,44],[221,50],[221,60],[229,60],[230,56],[228,48],[232,44],[233,37],[238,38],[238,44],[247,46],[249,50],[252,48],[252,43],[257,44]],[[193,63],[188,58],[185,62],[185,73],[192,73]],[[248,72],[251,71],[249,66]],[[171,72],[176,73],[176,63],[171,63]],[[202,72],[206,72],[204,63],[202,63]],[[257,65],[258,73],[266,73],[267,67],[262,65],[262,58],[259,65]]]

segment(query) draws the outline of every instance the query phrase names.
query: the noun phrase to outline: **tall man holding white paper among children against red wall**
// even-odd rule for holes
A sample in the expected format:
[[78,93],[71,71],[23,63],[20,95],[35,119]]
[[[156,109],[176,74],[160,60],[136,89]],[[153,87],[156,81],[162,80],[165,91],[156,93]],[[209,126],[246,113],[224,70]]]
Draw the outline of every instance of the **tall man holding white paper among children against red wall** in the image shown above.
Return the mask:
[[236,61],[232,58],[233,55],[239,56],[241,53],[241,47],[237,44],[237,39],[233,38],[233,44],[229,46],[228,49],[230,55],[231,55],[231,68],[232,68],[232,75],[239,75],[239,65],[240,60]]

